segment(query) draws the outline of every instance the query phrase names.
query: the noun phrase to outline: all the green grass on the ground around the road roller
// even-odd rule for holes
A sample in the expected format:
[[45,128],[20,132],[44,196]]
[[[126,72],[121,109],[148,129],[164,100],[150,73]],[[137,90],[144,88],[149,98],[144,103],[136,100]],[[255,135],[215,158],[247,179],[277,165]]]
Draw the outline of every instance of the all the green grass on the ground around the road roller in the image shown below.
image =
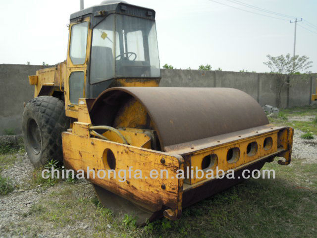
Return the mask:
[[[317,116],[317,108],[305,107],[283,110],[275,124],[287,124],[317,135],[315,122],[289,121],[292,116]],[[317,121],[317,120],[316,120]],[[0,156],[6,166],[14,159]],[[308,164],[292,159],[288,166],[277,164],[277,159],[266,163],[264,169],[275,170],[275,179],[248,179],[183,209],[181,219],[165,218],[140,228],[135,219],[126,216],[115,219],[95,196],[86,182],[56,180],[40,202],[23,213],[24,219],[10,225],[16,234],[37,237],[47,230],[63,232],[63,237],[124,237],[124,238],[315,238],[317,234],[317,163]],[[34,186],[44,184],[34,172]],[[34,224],[34,225],[33,225]],[[84,226],[89,228],[85,229]],[[8,228],[9,229],[9,228]]]

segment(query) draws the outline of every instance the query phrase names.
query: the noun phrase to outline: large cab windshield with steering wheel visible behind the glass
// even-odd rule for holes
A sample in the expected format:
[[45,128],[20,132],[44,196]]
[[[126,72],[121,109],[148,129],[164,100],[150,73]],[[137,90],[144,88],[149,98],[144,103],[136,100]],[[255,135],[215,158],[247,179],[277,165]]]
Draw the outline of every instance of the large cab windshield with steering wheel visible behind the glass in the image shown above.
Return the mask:
[[93,30],[90,83],[160,77],[155,22],[111,14]]

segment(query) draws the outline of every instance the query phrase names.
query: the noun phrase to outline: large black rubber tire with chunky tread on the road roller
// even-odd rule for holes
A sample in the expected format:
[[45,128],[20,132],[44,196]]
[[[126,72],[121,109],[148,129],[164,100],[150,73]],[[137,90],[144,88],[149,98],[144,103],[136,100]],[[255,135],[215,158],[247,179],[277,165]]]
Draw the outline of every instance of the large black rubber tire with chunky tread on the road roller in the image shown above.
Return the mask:
[[28,157],[34,167],[48,161],[63,162],[61,132],[68,128],[64,102],[51,96],[29,101],[24,108],[22,133]]

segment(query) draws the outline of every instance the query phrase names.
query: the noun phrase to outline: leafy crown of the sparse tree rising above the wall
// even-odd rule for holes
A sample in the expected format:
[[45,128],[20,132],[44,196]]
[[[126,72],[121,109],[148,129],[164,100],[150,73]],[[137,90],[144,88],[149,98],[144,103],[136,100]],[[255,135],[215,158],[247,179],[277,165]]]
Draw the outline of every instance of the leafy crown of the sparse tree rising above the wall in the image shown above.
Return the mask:
[[[273,73],[281,73],[281,74],[294,74],[300,71],[305,71],[306,69],[312,67],[313,61],[308,61],[309,58],[307,56],[298,56],[291,57],[290,54],[286,56],[266,56],[268,58],[267,62],[263,62],[271,72]],[[310,71],[306,71],[304,73],[311,73]]]

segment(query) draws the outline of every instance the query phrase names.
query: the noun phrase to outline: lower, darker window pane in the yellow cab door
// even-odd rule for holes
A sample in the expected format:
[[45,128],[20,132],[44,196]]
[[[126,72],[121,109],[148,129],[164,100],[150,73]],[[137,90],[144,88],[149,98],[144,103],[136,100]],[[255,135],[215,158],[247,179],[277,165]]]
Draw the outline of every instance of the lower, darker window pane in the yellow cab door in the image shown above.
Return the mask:
[[72,72],[69,76],[69,101],[72,104],[78,104],[78,99],[84,97],[84,79],[83,71]]

